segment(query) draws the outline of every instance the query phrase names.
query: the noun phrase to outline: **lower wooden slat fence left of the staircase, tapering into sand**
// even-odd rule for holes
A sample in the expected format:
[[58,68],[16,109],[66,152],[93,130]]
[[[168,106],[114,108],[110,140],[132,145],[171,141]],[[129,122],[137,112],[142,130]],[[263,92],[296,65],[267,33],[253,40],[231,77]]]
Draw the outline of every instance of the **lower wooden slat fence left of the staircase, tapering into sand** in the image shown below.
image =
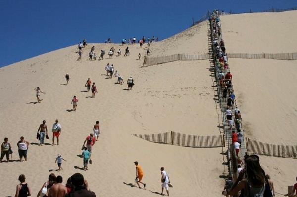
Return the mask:
[[188,135],[177,132],[167,132],[159,134],[132,134],[149,142],[160,144],[172,144],[177,146],[195,147],[195,148],[212,148],[224,147],[225,138],[223,135],[198,136]]

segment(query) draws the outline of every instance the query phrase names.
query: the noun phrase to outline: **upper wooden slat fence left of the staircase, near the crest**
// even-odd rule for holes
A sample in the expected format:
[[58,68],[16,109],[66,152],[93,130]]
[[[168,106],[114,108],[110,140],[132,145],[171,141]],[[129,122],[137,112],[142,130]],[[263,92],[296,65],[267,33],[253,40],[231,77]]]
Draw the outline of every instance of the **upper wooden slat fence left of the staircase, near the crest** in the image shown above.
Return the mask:
[[209,54],[198,54],[198,55],[186,55],[186,54],[173,54],[167,56],[157,56],[157,57],[145,57],[144,65],[142,67],[147,67],[155,64],[163,64],[168,62],[174,62],[178,60],[206,60],[209,59]]

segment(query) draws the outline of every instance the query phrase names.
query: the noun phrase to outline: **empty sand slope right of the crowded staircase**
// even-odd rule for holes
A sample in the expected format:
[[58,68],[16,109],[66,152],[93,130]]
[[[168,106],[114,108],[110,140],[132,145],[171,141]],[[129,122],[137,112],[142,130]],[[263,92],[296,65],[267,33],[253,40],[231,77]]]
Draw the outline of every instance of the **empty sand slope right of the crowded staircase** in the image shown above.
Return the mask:
[[[221,17],[227,53],[297,52],[297,11],[251,13]],[[261,142],[296,145],[297,61],[229,60],[237,105],[246,137]],[[297,160],[260,157],[261,165],[286,194],[295,181]]]

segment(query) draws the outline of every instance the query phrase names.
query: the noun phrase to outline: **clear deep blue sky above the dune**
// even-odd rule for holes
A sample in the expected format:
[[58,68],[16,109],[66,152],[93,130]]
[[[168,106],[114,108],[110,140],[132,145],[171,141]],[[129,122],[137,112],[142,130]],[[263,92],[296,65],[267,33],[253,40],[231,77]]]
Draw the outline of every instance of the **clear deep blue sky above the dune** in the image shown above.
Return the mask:
[[297,0],[0,0],[0,67],[79,43],[165,39],[218,8],[297,7]]

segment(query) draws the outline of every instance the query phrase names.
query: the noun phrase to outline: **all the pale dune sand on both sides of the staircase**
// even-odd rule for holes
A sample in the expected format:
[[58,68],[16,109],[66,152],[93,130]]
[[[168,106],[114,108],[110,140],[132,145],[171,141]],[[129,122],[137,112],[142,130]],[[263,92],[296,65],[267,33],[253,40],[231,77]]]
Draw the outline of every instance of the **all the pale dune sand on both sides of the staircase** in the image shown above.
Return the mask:
[[[274,14],[287,14],[287,17],[291,17],[295,13]],[[270,18],[274,17],[274,14],[263,13],[261,16]],[[232,17],[241,16],[249,17],[248,14],[222,17],[223,31],[236,28],[238,24],[233,22]],[[278,18],[271,21],[270,26],[284,25]],[[255,33],[259,31],[261,35],[261,23],[253,23],[256,19],[258,17],[247,18],[245,23],[250,25],[249,29]],[[162,42],[154,43],[151,56],[207,53],[207,33],[207,23],[201,23]],[[231,41],[226,32],[223,34],[226,48],[231,52],[232,47],[240,43],[233,42],[239,40],[239,37],[234,37],[232,33],[229,38],[233,36],[234,40]],[[283,48],[289,47],[290,44],[282,38],[279,34],[273,36],[273,39],[285,45]],[[255,40],[256,43],[258,41]],[[243,45],[247,48],[243,52],[255,53],[257,50],[262,52],[271,48],[251,48],[248,39],[241,39],[241,42],[244,42]],[[36,132],[43,119],[47,120],[50,137],[54,120],[58,118],[62,125],[59,146],[30,145],[27,162],[0,164],[1,176],[7,177],[0,180],[1,195],[13,196],[19,174],[25,174],[32,187],[33,196],[36,196],[47,180],[49,171],[53,170],[51,172],[62,175],[65,181],[73,173],[82,173],[97,196],[158,196],[157,193],[161,191],[159,169],[164,166],[174,185],[174,188],[170,189],[170,196],[220,196],[224,186],[224,179],[220,177],[224,172],[227,173],[226,166],[222,165],[226,161],[225,156],[221,155],[222,148],[196,149],[162,145],[131,135],[171,130],[186,134],[218,135],[220,111],[214,100],[216,93],[208,70],[209,61],[178,61],[140,68],[143,59],[137,60],[138,53],[144,56],[146,45],[143,48],[129,45],[129,57],[108,59],[105,55],[106,59],[102,61],[88,61],[88,53],[93,45],[98,56],[100,49],[104,49],[106,53],[112,46],[116,51],[120,48],[124,52],[125,49],[125,46],[118,44],[88,44],[87,48],[83,49],[82,61],[76,61],[78,54],[75,45],[0,68],[0,134],[1,138],[7,136],[13,146],[13,160],[18,159],[16,143],[20,136],[24,136],[29,142],[38,143]],[[296,95],[292,91],[296,89],[295,62],[281,61],[286,69],[280,69],[280,65],[274,60],[252,61],[230,60],[238,105],[242,110],[245,127],[250,128],[248,136],[276,144],[296,142],[293,130],[296,124]],[[114,64],[115,70],[123,76],[125,83],[129,76],[134,77],[136,85],[132,91],[125,90],[126,84],[114,84],[117,80],[115,78],[106,79],[104,67],[107,63]],[[247,66],[247,63],[250,64]],[[262,65],[263,68],[259,69]],[[269,76],[258,77],[258,73],[267,72],[265,68],[268,66],[271,68]],[[254,74],[247,76],[250,72]],[[278,80],[280,72],[285,76],[281,82]],[[71,78],[68,85],[64,85],[66,73],[69,73]],[[92,94],[84,92],[87,78],[91,78],[97,85],[98,94],[95,98],[89,98]],[[255,82],[247,83],[248,79]],[[274,85],[266,82],[266,79],[270,79]],[[41,94],[44,99],[41,103],[36,103],[33,89],[37,86],[46,92]],[[254,91],[255,89],[259,92]],[[263,90],[266,90],[265,94],[262,93]],[[259,101],[259,94],[266,99]],[[286,95],[285,98],[282,97],[283,94]],[[79,98],[76,112],[70,111],[70,102],[74,95]],[[277,95],[276,98],[271,98],[273,95]],[[269,106],[273,105],[275,108],[271,110]],[[261,109],[258,108],[264,109],[263,113],[267,118],[260,117]],[[285,113],[288,113],[288,117]],[[256,121],[259,118],[265,120],[263,124]],[[79,169],[83,166],[82,158],[77,155],[81,153],[82,143],[92,132],[96,120],[100,121],[101,135],[93,148],[93,164],[88,171],[82,171]],[[282,132],[283,135],[280,134]],[[46,142],[51,143],[51,140]],[[54,160],[58,153],[67,160],[62,164],[62,172],[54,171],[57,169]],[[260,158],[266,172],[275,180],[277,191],[286,193],[287,185],[294,181],[297,174],[293,168],[296,166],[296,160],[264,156]],[[130,186],[134,184],[135,160],[143,168],[143,181],[147,183],[147,190]]]

